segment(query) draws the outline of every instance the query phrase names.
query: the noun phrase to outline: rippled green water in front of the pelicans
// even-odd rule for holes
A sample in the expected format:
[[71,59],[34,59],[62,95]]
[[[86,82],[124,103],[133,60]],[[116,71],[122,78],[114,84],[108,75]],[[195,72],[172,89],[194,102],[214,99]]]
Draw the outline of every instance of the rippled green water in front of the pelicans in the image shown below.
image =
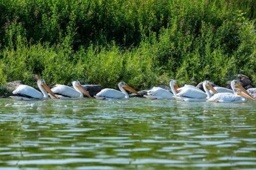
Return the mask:
[[256,102],[0,100],[0,169],[256,169]]

